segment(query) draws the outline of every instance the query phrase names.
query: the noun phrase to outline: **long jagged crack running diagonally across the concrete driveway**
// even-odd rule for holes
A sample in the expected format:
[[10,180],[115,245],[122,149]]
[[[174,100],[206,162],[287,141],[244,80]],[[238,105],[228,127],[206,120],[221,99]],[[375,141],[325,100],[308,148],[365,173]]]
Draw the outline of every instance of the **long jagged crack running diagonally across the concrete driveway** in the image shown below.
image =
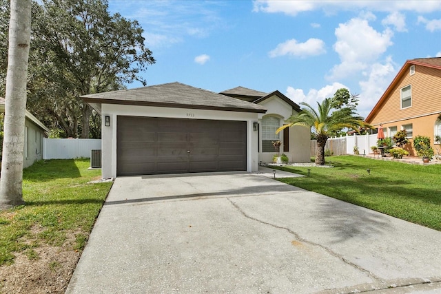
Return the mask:
[[327,253],[329,253],[330,255],[338,258],[339,260],[341,260],[342,262],[345,262],[345,264],[348,264],[349,266],[352,266],[354,269],[357,269],[358,271],[362,271],[363,273],[366,273],[369,277],[371,277],[373,280],[376,280],[377,282],[384,282],[384,280],[382,280],[380,277],[378,277],[377,275],[371,273],[370,271],[368,271],[367,269],[363,269],[361,266],[358,266],[357,264],[350,262],[349,260],[347,260],[346,258],[343,258],[341,255],[339,255],[338,253],[332,251],[331,249],[327,248],[326,246],[323,246],[322,244],[318,244],[315,242],[311,242],[309,240],[306,240],[302,237],[300,237],[300,235],[298,235],[298,233],[296,233],[295,231],[292,231],[291,229],[287,228],[287,227],[282,227],[282,226],[278,226],[277,224],[271,224],[269,222],[265,222],[263,220],[258,220],[257,218],[253,218],[252,216],[249,216],[247,213],[245,213],[245,211],[243,211],[243,209],[241,209],[238,204],[236,204],[236,202],[232,201],[231,199],[227,198],[227,200],[243,215],[245,216],[245,218],[248,218],[249,220],[254,220],[256,222],[259,222],[260,224],[266,224],[268,226],[274,227],[276,229],[283,229],[285,231],[287,231],[288,233],[290,233],[291,235],[294,235],[294,238],[296,238],[297,240],[299,240],[300,242],[304,242],[306,244],[310,244],[312,246],[317,246],[323,250],[325,250]]

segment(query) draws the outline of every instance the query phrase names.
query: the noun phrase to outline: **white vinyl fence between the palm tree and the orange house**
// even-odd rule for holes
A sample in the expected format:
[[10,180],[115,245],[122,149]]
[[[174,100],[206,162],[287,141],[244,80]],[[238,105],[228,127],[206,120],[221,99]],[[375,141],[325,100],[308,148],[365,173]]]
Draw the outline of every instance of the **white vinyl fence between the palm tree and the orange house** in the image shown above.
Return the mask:
[[[360,154],[371,153],[371,146],[377,145],[377,134],[342,136],[329,138],[326,142],[325,151],[331,150],[333,155],[353,154],[353,147],[357,146]],[[317,154],[317,140],[311,140],[311,156]]]

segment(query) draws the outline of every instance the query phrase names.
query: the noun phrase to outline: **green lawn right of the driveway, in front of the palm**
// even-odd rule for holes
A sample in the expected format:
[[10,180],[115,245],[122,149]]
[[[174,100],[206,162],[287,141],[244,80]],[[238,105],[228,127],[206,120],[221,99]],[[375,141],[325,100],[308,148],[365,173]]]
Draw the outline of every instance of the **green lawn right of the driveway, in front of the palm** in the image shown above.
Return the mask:
[[[274,167],[307,176],[281,182],[441,231],[441,165],[331,156],[324,167]],[[371,173],[368,174],[367,169]]]

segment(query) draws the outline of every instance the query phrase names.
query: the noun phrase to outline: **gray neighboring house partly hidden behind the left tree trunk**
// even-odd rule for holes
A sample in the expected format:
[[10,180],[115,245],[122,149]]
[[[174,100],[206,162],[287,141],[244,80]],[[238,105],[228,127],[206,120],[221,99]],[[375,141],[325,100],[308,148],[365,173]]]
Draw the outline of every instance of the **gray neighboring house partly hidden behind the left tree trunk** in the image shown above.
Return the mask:
[[[5,113],[5,98],[1,97],[0,113]],[[43,138],[48,132],[49,129],[26,110],[23,168],[30,167],[35,161],[43,159]]]

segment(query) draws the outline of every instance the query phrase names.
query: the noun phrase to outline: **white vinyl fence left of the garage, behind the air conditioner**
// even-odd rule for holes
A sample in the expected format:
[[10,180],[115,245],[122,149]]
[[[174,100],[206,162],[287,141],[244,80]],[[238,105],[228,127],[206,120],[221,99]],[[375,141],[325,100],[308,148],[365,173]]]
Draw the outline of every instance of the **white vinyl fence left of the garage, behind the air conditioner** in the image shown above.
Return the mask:
[[101,139],[43,139],[43,159],[90,158],[92,149],[101,149]]

